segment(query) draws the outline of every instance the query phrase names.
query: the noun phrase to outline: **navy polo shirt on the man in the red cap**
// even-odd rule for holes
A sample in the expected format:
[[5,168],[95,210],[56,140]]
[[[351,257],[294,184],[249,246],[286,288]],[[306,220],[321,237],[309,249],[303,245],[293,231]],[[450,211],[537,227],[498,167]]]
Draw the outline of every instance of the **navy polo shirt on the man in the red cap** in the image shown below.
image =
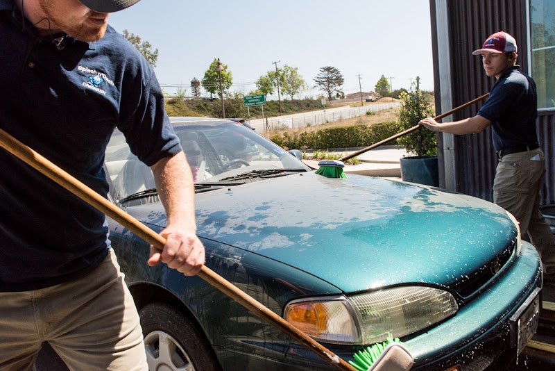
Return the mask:
[[478,115],[492,122],[495,151],[538,144],[536,83],[515,65],[499,76]]

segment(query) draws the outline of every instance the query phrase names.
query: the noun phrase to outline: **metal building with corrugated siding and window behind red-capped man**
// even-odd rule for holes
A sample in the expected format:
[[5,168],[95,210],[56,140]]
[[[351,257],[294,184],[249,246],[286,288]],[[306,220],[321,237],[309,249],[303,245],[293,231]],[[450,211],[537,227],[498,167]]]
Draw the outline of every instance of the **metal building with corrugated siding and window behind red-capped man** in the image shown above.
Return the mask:
[[[536,126],[547,167],[541,204],[555,204],[555,1],[430,0],[430,13],[438,114],[492,88],[495,78],[486,76],[479,56],[472,56],[488,35],[506,31],[517,40],[518,64],[538,85]],[[473,116],[481,104],[443,122]],[[440,186],[493,201],[497,158],[489,128],[479,134],[439,133],[438,157]]]

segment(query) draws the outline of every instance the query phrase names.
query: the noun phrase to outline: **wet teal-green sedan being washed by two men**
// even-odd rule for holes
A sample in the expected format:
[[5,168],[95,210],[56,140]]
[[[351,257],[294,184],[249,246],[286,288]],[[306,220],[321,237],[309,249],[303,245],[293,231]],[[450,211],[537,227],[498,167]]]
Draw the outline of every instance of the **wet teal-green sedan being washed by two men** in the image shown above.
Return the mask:
[[[503,369],[536,331],[540,258],[502,208],[400,181],[327,178],[241,124],[172,121],[196,181],[207,267],[343,360],[393,336],[413,370]],[[105,172],[115,204],[164,229],[152,173],[119,132]],[[109,222],[151,370],[334,369],[203,279],[148,267],[148,243]]]

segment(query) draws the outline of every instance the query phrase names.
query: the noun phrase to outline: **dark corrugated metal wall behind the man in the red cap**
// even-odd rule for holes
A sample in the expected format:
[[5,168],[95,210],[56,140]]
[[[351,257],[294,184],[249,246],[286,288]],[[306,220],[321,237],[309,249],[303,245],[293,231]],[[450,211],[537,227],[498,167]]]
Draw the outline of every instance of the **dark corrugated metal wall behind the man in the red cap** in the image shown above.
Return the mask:
[[[431,8],[435,7],[435,2],[434,0],[430,1]],[[495,78],[488,77],[484,73],[481,58],[472,56],[472,51],[479,49],[488,35],[492,33],[506,31],[515,37],[519,49],[518,64],[522,67],[523,72],[528,71],[525,0],[447,0],[447,9],[454,107],[489,92],[495,83]],[[432,12],[433,16],[434,12]],[[435,24],[436,22],[432,19],[432,28]],[[435,77],[438,79],[437,74]],[[473,116],[480,106],[481,104],[476,104],[465,108],[459,113],[455,113],[453,119]],[[436,107],[438,107],[437,101]],[[540,145],[547,158],[542,204],[555,203],[554,128],[554,113],[543,113],[538,117]],[[490,129],[479,134],[456,135],[455,148],[457,190],[467,195],[493,201],[491,187],[497,159],[491,143]]]

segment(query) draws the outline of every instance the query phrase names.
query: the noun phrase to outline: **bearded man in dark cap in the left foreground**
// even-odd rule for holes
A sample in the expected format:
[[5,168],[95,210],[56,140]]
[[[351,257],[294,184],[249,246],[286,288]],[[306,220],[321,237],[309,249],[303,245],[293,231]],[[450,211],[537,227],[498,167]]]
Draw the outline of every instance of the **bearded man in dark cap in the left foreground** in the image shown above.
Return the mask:
[[[148,263],[194,275],[191,170],[153,69],[107,24],[137,1],[0,0],[0,128],[106,196],[117,126],[168,214]],[[105,215],[3,149],[0,164],[0,369],[29,370],[47,341],[73,370],[147,370]]]

